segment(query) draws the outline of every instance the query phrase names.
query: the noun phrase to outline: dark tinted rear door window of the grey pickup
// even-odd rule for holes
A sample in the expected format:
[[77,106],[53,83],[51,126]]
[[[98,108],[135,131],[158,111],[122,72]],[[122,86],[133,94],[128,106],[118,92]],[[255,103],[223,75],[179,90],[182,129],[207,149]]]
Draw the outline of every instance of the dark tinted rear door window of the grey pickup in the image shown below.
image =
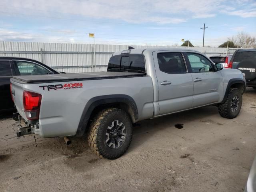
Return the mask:
[[169,74],[186,73],[186,66],[181,53],[158,53],[160,71]]

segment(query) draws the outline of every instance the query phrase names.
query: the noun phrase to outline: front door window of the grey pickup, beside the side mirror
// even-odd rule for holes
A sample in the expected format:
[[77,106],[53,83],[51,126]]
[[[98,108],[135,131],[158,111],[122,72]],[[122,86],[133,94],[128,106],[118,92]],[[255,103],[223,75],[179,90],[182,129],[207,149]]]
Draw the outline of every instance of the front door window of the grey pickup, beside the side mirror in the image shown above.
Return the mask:
[[187,53],[193,73],[212,72],[212,63],[204,56],[196,53]]

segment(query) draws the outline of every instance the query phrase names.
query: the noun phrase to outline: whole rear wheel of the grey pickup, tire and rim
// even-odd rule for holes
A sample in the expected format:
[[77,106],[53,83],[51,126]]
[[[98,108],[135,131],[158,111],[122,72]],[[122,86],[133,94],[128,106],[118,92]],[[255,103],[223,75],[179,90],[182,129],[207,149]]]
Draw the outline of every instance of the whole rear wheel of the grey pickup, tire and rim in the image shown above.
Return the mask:
[[122,156],[132,140],[132,122],[123,110],[102,110],[92,121],[88,142],[101,157],[116,159]]

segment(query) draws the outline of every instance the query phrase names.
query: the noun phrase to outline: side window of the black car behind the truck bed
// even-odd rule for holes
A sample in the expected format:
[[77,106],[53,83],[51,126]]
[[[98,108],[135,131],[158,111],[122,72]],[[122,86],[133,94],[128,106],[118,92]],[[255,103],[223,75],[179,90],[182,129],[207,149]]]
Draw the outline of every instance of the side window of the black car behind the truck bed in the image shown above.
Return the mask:
[[50,70],[29,61],[14,61],[14,68],[19,75],[45,75],[50,73]]

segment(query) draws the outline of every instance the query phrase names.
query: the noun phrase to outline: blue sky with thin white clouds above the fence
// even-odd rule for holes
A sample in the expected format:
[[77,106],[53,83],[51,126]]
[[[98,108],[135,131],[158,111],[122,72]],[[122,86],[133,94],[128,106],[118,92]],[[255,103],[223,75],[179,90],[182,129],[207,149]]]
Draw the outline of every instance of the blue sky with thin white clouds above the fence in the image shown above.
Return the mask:
[[256,37],[256,0],[1,0],[0,41],[217,47]]

